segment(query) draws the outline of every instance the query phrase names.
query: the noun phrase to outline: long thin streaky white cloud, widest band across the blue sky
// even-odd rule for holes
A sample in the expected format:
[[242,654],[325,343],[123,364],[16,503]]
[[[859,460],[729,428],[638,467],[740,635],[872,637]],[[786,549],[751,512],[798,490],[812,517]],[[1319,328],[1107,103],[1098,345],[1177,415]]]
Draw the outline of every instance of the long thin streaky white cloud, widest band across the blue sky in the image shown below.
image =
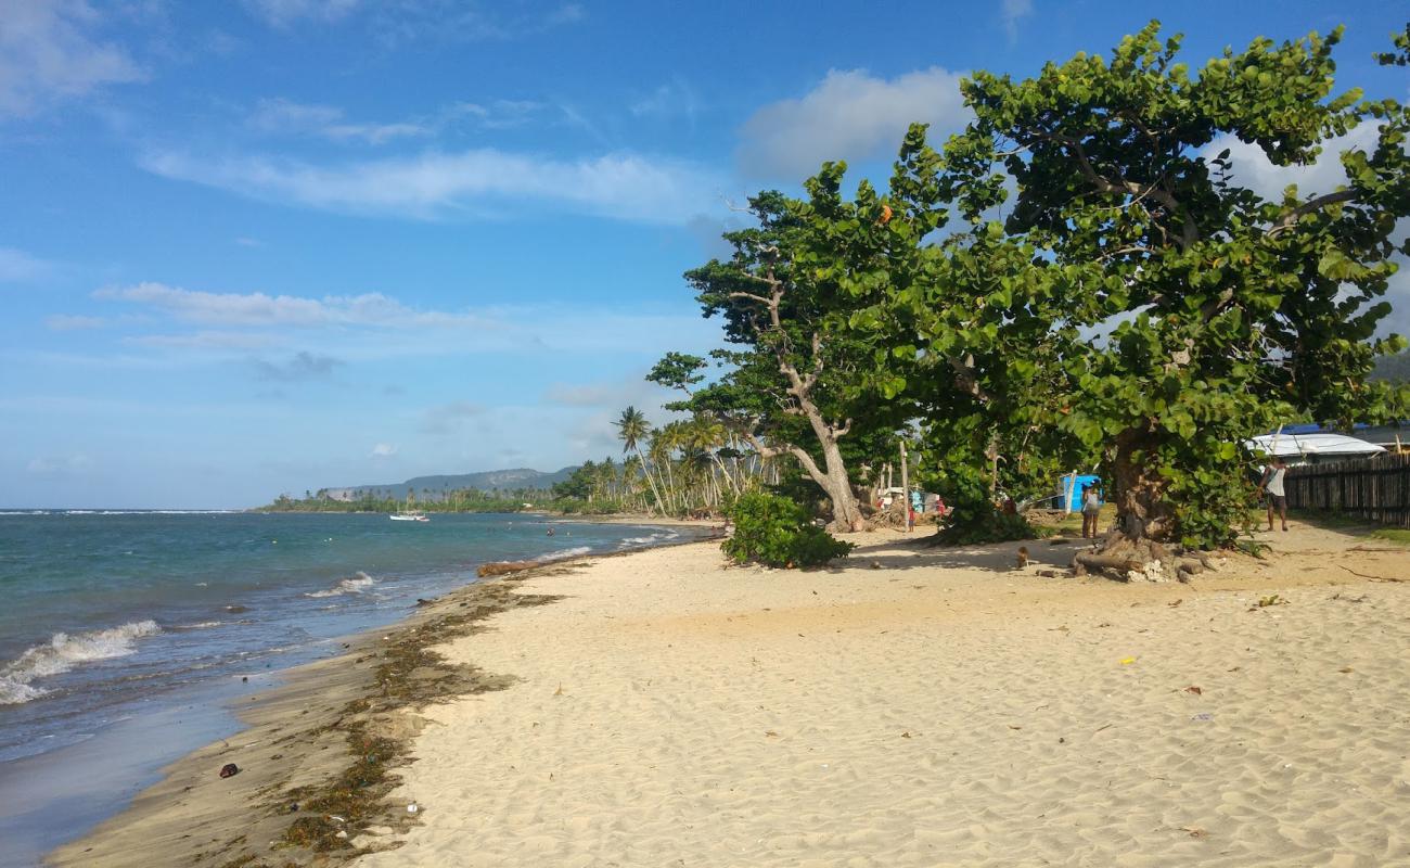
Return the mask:
[[502,216],[543,205],[575,213],[682,223],[708,210],[721,189],[692,164],[636,154],[574,161],[494,148],[312,165],[265,157],[197,158],[158,151],[147,171],[258,199],[333,212],[433,219]]

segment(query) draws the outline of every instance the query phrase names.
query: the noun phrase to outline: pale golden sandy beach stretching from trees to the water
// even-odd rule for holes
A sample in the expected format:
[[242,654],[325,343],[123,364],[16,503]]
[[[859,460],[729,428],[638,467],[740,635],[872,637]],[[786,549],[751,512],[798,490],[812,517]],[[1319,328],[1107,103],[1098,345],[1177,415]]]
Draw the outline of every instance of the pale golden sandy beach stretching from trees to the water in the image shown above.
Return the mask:
[[[434,634],[475,680],[382,713],[398,780],[340,845],[364,868],[1410,864],[1410,550],[1297,526],[1186,586],[1039,576],[1072,542],[1018,569],[1018,543],[853,541],[821,572],[702,542],[461,591],[499,600]],[[271,847],[345,724],[293,749],[271,727],[385,693],[348,675],[378,641],[54,861],[351,855]]]

